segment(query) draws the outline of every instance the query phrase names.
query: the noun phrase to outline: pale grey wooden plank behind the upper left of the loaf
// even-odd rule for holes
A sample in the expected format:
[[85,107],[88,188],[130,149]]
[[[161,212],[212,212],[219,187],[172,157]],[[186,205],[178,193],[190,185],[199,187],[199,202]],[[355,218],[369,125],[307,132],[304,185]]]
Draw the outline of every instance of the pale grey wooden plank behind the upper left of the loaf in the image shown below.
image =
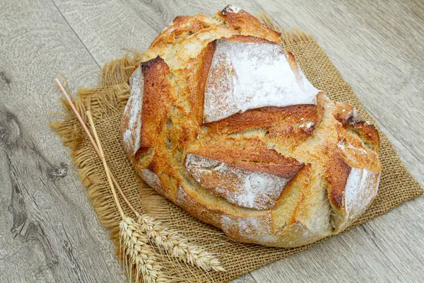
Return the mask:
[[[226,1],[53,0],[98,64],[125,54],[123,49],[146,50],[176,16],[212,14]],[[236,1],[251,11],[259,6]]]

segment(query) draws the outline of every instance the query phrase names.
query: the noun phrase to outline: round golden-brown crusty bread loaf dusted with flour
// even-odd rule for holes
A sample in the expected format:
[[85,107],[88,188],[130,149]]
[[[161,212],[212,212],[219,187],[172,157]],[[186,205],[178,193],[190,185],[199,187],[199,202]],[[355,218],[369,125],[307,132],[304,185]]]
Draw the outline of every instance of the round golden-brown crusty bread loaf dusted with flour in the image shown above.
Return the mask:
[[136,172],[236,241],[312,243],[377,195],[375,127],[314,88],[280,33],[244,10],[175,18],[129,82],[122,139]]

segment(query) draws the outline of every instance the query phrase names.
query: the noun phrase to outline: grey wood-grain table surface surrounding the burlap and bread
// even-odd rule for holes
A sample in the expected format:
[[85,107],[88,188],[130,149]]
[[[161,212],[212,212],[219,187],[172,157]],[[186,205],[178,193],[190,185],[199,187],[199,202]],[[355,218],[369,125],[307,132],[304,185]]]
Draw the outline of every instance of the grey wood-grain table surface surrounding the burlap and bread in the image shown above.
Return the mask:
[[[48,127],[57,72],[94,86],[100,67],[143,50],[175,16],[227,1],[0,0],[0,281],[122,282],[112,243],[69,149]],[[424,183],[424,3],[242,0],[311,33]],[[235,282],[423,282],[424,197]]]

